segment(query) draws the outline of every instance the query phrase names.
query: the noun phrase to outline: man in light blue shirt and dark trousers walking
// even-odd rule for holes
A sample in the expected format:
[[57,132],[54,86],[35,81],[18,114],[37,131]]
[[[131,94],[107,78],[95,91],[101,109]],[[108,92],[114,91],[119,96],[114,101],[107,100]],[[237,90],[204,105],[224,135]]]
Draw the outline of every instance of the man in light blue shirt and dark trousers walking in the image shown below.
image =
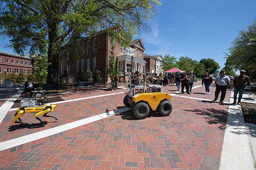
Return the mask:
[[221,75],[218,76],[215,79],[216,90],[215,90],[215,99],[214,99],[214,101],[217,101],[218,96],[219,96],[219,94],[221,92],[220,103],[224,103],[223,101],[224,101],[225,96],[226,96],[227,87],[230,84],[230,78],[228,76],[225,76],[226,72],[223,71],[223,70],[221,70],[220,74]]

